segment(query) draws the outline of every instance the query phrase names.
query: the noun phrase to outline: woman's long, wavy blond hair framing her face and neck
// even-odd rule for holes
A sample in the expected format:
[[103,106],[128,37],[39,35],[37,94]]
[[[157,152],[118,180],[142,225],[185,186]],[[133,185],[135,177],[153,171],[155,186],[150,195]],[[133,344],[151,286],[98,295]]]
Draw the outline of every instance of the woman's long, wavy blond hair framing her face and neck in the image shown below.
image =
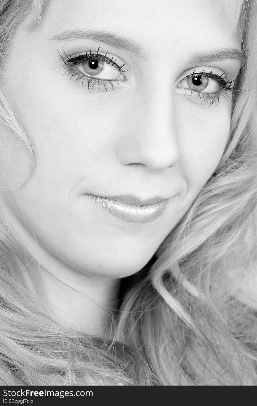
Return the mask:
[[[45,6],[43,0],[1,1],[2,64],[15,28],[28,13],[32,25],[40,24]],[[231,290],[231,275],[252,269],[256,256],[256,1],[231,2],[231,15],[234,26],[242,26],[245,59],[236,90],[244,93],[234,95],[225,152],[153,264],[125,280],[113,340],[71,332],[51,317],[40,266],[1,214],[2,385],[257,383],[256,314]],[[3,89],[0,119],[35,158]]]

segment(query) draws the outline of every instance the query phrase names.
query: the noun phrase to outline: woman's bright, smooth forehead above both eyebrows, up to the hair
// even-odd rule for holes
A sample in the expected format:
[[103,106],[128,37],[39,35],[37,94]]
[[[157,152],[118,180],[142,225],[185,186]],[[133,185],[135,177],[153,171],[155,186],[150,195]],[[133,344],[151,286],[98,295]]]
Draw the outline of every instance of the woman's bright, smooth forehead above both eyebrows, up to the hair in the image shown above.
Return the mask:
[[[102,30],[143,49],[209,50],[240,46],[226,0],[50,0],[41,30]],[[183,47],[183,49],[181,49]]]

